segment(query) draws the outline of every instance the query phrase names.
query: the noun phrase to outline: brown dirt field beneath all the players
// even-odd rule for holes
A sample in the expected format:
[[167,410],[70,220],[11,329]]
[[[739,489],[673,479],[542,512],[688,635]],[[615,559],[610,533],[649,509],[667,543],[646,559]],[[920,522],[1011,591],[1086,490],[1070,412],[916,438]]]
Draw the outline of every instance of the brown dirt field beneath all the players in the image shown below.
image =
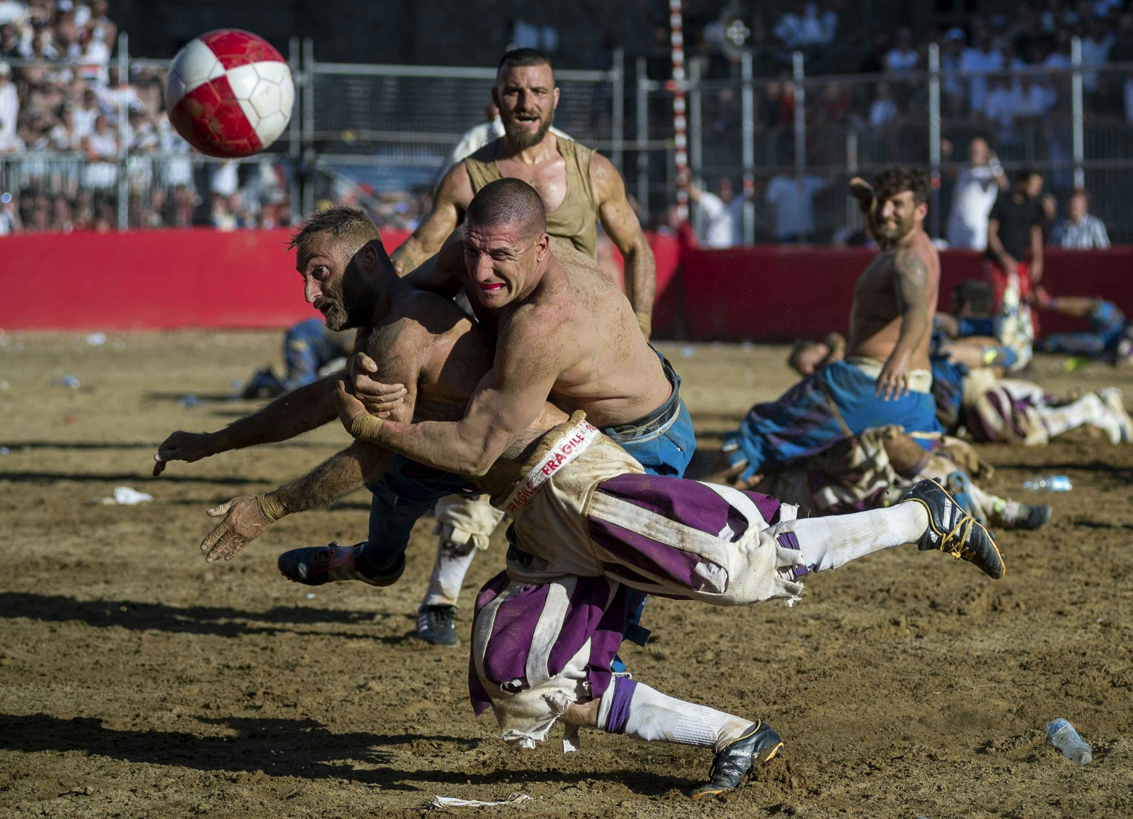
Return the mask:
[[[794,608],[650,602],[650,646],[623,652],[638,677],[765,717],[787,743],[744,787],[697,804],[684,794],[707,751],[591,732],[563,756],[556,731],[525,752],[495,739],[489,715],[472,718],[467,648],[412,637],[431,520],[387,590],[312,596],[275,570],[283,549],[361,539],[365,494],[204,563],[207,506],[347,441],[335,425],[148,477],[169,432],[254,408],[225,393],[278,366],[278,345],[275,333],[231,332],[0,339],[0,816],[353,818],[511,792],[534,801],[478,814],[1133,813],[1133,446],[1074,434],[981,450],[1000,494],[1053,471],[1075,485],[1047,496],[1048,529],[1000,535],[999,582],[906,547],[810,579]],[[792,381],[778,348],[665,349],[705,443]],[[1038,362],[1054,392],[1115,383],[1133,396],[1127,372],[1063,376],[1058,364]],[[65,375],[79,386],[51,385]],[[195,406],[178,403],[186,394]],[[122,485],[155,500],[91,503]],[[499,543],[477,558],[469,606],[502,564]],[[1092,765],[1047,744],[1058,716],[1093,744]]]

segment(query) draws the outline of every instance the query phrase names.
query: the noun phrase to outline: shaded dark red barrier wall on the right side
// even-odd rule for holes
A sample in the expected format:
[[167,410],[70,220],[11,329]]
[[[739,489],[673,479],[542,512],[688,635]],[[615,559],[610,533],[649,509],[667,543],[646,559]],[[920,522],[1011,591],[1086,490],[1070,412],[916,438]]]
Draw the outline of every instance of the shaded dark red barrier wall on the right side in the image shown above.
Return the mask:
[[[658,335],[683,322],[690,341],[792,341],[845,333],[853,285],[874,254],[858,248],[760,246],[688,250],[682,274],[663,301],[675,306],[673,324],[655,323]],[[940,308],[952,285],[983,275],[982,255],[940,254]],[[1053,295],[1101,296],[1133,316],[1133,247],[1111,250],[1048,250],[1043,283]],[[1042,332],[1085,324],[1040,313]]]

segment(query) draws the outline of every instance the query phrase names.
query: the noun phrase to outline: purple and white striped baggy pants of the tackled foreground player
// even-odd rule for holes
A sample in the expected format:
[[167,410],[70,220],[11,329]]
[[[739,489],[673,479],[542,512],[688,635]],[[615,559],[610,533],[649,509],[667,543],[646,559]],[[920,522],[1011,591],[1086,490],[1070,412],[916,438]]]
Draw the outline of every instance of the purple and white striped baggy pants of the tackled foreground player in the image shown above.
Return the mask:
[[798,599],[794,511],[681,478],[602,481],[586,514],[602,577],[531,583],[502,572],[480,589],[469,667],[477,715],[491,707],[505,741],[533,747],[572,702],[602,697],[622,641],[625,587],[723,606]]

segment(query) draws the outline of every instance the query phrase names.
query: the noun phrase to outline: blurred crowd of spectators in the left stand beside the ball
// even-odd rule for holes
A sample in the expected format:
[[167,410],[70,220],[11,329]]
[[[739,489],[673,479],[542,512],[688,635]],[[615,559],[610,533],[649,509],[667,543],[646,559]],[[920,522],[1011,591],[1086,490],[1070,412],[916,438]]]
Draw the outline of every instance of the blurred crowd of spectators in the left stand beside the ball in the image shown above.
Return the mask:
[[291,221],[287,171],[204,162],[170,126],[164,71],[119,76],[107,0],[0,0],[0,236]]

